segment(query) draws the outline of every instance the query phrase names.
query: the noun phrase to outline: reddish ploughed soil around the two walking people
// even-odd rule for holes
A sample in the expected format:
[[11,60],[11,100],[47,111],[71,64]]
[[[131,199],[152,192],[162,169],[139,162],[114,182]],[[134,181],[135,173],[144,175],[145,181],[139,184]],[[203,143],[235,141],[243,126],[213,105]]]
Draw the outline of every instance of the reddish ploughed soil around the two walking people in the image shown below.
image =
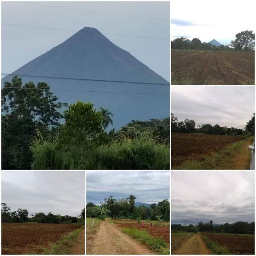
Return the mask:
[[[124,220],[124,222],[116,223],[115,225],[117,225],[120,228],[142,229],[141,223],[131,223],[129,220]],[[162,237],[167,244],[170,243],[170,226],[156,226],[153,224],[153,228],[150,229],[149,224],[145,222],[145,228],[143,229],[145,229],[153,237]]]

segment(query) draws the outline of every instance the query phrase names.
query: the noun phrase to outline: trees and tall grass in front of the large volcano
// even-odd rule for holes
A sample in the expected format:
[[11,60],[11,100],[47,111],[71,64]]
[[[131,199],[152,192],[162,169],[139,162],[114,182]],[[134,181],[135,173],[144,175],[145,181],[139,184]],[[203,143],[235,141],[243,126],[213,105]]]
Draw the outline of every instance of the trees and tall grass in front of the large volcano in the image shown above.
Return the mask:
[[106,132],[108,109],[57,102],[45,82],[23,86],[17,76],[1,100],[2,169],[169,169],[170,118]]

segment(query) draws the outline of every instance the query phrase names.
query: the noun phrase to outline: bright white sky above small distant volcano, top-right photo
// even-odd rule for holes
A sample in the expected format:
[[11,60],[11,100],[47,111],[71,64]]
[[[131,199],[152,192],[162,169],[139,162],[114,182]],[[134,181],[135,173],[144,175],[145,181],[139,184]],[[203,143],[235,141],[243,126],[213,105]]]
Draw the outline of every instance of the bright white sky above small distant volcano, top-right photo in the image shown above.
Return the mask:
[[214,2],[172,0],[171,39],[199,38],[202,42],[216,39],[228,44],[235,34],[255,29],[255,1],[215,0]]

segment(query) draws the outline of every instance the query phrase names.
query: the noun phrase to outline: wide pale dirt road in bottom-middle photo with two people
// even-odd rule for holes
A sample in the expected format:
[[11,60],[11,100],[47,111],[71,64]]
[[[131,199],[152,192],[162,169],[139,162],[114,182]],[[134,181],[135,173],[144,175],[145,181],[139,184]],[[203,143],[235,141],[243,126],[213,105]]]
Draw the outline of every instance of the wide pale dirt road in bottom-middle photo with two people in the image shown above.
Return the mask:
[[122,233],[107,221],[100,224],[90,252],[94,255],[154,254],[147,246]]

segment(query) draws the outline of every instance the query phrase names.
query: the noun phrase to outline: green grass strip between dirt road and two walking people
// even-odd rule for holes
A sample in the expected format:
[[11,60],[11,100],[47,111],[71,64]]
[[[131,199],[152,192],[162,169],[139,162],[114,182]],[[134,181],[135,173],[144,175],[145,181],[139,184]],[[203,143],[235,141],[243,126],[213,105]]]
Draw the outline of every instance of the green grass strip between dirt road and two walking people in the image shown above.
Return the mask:
[[145,230],[139,230],[136,228],[121,228],[121,231],[130,235],[132,238],[139,240],[141,243],[146,244],[153,250],[161,255],[169,255],[170,249],[168,244],[162,240],[162,238],[152,237]]

